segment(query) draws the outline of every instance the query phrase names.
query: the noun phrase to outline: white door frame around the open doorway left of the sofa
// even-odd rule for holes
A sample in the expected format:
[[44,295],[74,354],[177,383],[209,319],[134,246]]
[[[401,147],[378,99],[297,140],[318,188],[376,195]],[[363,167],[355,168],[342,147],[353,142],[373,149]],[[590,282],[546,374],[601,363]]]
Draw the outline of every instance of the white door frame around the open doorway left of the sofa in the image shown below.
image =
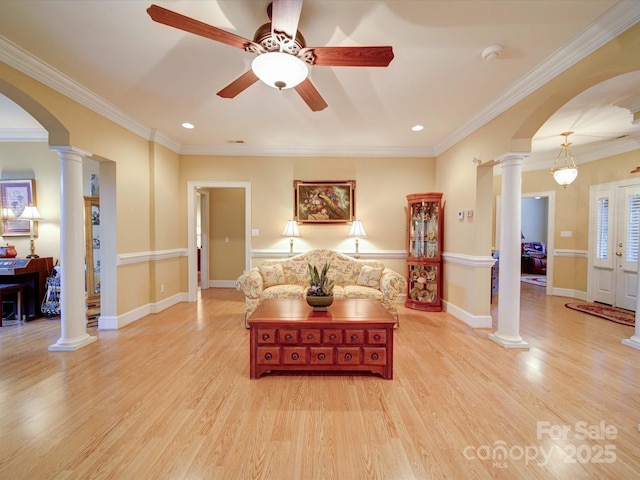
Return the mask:
[[196,249],[196,215],[198,189],[201,188],[242,188],[244,189],[244,238],[245,271],[251,268],[251,182],[218,182],[192,180],[187,182],[187,262],[188,262],[188,300],[198,298],[198,252]]

